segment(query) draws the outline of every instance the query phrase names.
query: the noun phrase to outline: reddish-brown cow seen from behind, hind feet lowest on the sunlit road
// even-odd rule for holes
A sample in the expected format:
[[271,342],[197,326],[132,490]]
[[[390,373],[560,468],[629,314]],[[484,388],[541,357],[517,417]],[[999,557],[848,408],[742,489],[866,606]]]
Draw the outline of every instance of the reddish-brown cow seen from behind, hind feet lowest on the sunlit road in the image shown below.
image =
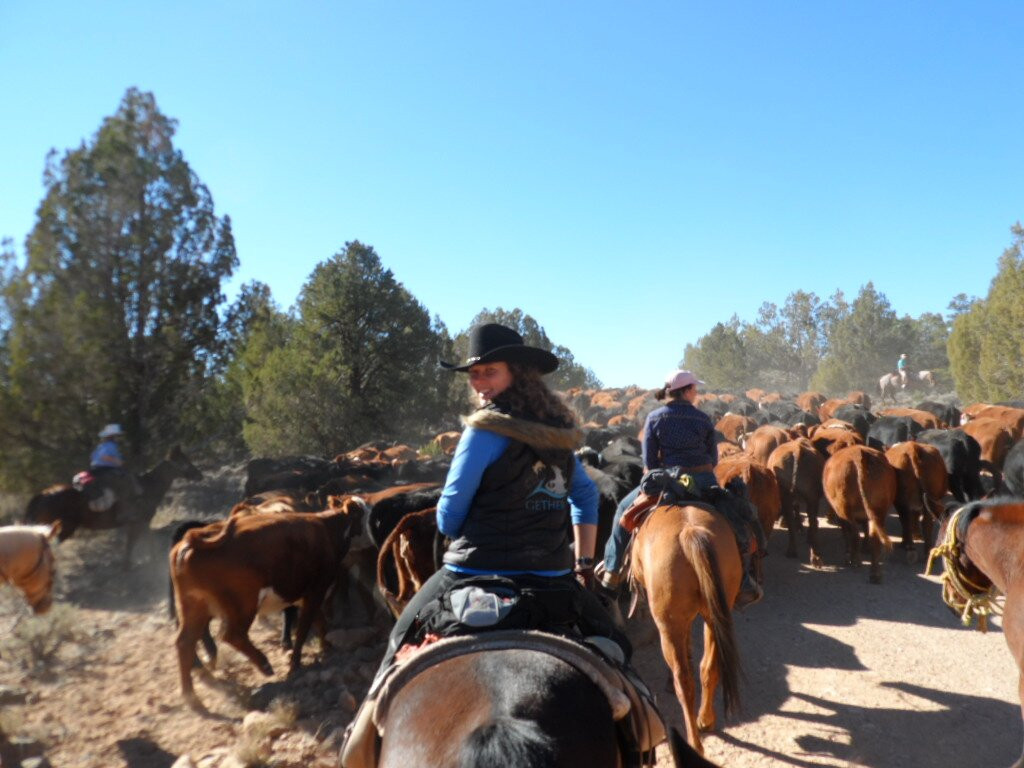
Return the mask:
[[896,500],[896,470],[881,451],[851,445],[825,462],[821,476],[825,499],[839,517],[850,564],[860,566],[860,528],[866,524],[871,553],[868,581],[882,583],[882,550],[892,546],[886,515]]

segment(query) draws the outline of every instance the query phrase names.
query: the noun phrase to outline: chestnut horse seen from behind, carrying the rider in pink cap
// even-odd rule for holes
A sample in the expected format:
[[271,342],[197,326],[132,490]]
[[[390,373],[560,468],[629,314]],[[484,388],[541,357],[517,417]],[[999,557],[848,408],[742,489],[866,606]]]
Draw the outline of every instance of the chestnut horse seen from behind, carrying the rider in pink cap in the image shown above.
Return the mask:
[[[739,651],[732,627],[742,579],[736,537],[725,517],[703,507],[657,507],[637,529],[631,558],[631,581],[647,593],[687,740],[702,755],[699,732],[715,728],[720,681],[726,716],[739,708]],[[705,620],[699,713],[690,652],[690,626],[697,614]]]

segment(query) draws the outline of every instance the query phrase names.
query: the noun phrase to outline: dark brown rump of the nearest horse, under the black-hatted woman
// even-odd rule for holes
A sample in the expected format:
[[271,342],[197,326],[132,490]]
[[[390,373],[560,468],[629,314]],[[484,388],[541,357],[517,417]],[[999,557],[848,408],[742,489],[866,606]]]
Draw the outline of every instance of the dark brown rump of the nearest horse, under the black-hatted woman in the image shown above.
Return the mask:
[[[395,694],[379,725],[378,768],[637,765],[623,754],[597,685],[534,649],[469,653],[429,667]],[[676,731],[670,749],[677,768],[716,768]]]

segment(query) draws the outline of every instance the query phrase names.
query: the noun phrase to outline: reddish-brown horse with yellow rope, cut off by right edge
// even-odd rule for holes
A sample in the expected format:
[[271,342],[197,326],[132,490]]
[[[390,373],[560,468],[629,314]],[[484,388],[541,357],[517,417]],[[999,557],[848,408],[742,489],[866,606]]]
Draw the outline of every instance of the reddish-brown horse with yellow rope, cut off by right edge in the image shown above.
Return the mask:
[[[984,631],[988,615],[1002,612],[1002,635],[1017,662],[1024,716],[1024,502],[993,500],[961,507],[943,519],[938,542],[929,569],[932,559],[942,558],[942,599],[964,624],[977,615]],[[1024,751],[1011,768],[1024,768]]]

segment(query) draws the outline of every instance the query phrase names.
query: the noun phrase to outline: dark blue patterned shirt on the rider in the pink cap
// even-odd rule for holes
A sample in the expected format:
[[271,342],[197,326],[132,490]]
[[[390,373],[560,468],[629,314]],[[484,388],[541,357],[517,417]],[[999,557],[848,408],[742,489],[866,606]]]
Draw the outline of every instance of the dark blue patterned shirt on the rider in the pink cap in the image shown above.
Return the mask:
[[699,467],[718,464],[718,444],[711,417],[685,400],[651,411],[643,428],[643,465]]

